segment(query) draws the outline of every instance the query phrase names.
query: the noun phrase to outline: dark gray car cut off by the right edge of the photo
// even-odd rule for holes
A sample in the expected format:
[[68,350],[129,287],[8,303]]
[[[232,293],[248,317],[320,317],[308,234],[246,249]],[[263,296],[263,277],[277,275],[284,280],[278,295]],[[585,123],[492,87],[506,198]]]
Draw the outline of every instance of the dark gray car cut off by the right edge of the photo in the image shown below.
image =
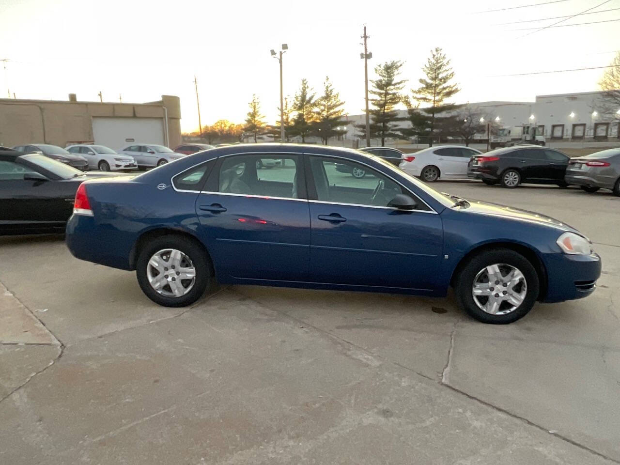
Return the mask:
[[611,189],[620,197],[620,148],[607,149],[585,157],[573,158],[566,169],[565,180],[585,192]]

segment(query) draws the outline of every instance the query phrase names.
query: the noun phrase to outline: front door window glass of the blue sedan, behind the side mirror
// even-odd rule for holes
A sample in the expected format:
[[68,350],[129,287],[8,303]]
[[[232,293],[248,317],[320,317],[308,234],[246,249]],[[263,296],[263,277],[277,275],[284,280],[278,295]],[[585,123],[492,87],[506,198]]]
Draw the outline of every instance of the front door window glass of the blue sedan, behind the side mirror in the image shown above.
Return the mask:
[[330,157],[310,157],[317,200],[387,206],[399,193],[410,195],[384,174],[360,163]]

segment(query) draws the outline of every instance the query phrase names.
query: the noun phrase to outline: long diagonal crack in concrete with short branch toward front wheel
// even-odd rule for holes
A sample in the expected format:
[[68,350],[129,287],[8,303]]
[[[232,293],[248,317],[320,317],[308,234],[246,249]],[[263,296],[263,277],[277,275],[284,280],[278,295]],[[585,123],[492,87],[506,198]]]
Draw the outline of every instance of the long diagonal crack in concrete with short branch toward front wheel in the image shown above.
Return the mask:
[[432,378],[430,378],[428,376],[425,376],[422,373],[418,373],[413,368],[410,368],[408,366],[402,365],[401,363],[397,363],[396,361],[389,360],[389,358],[386,358],[383,355],[378,355],[378,354],[376,354],[376,353],[374,353],[374,352],[372,352],[372,351],[370,351],[370,350],[368,350],[366,348],[360,347],[359,345],[356,345],[355,343],[352,343],[352,342],[350,342],[350,341],[348,341],[346,339],[343,339],[342,337],[333,334],[329,330],[325,330],[325,329],[322,329],[322,328],[317,327],[315,325],[312,325],[312,324],[304,321],[303,319],[300,319],[298,317],[294,317],[294,316],[286,313],[285,311],[281,311],[281,310],[278,310],[278,309],[270,308],[267,305],[265,305],[263,303],[260,303],[259,301],[256,301],[255,299],[252,299],[251,297],[247,296],[246,294],[242,294],[242,295],[246,296],[248,299],[252,300],[257,305],[259,305],[259,306],[261,306],[261,307],[263,307],[263,308],[265,308],[265,309],[267,309],[269,311],[277,312],[277,313],[279,313],[281,315],[284,315],[284,316],[292,319],[293,321],[302,323],[302,324],[306,325],[307,327],[311,327],[312,329],[314,329],[314,330],[316,330],[318,332],[321,332],[321,333],[327,335],[328,337],[331,337],[333,339],[339,340],[340,342],[344,342],[344,343],[347,343],[349,345],[352,345],[353,347],[357,348],[358,350],[361,350],[363,352],[368,353],[368,355],[370,355],[370,356],[373,356],[373,357],[376,357],[376,358],[380,358],[380,359],[385,360],[385,361],[389,361],[389,363],[392,363],[393,365],[396,365],[396,366],[399,366],[401,368],[404,368],[405,370],[411,371],[412,373],[415,373],[418,376],[421,376],[422,378],[429,379],[431,381],[435,381],[440,386],[446,387],[446,389],[449,389],[450,391],[456,392],[456,393],[460,394],[461,396],[465,396],[468,399],[471,399],[472,401],[476,401],[479,404],[486,405],[487,407],[490,407],[491,409],[494,409],[497,412],[501,412],[502,414],[505,414],[505,415],[508,415],[509,417],[515,418],[516,420],[520,420],[521,422],[524,422],[524,423],[526,423],[529,426],[532,426],[534,428],[537,428],[538,430],[541,430],[542,432],[545,432],[547,434],[555,436],[556,438],[559,438],[560,440],[563,440],[563,441],[565,441],[565,442],[567,442],[567,443],[569,443],[569,444],[571,444],[573,446],[576,446],[576,447],[578,447],[578,448],[580,448],[580,449],[582,449],[584,451],[587,451],[587,452],[589,452],[591,454],[594,454],[594,455],[596,455],[596,456],[598,456],[600,458],[606,459],[606,460],[608,460],[610,462],[613,462],[615,464],[619,464],[620,465],[620,461],[619,460],[616,460],[614,458],[606,456],[605,454],[603,454],[603,453],[601,453],[599,451],[596,451],[595,449],[592,449],[592,448],[590,448],[590,447],[588,447],[586,445],[578,443],[577,441],[572,440],[572,439],[568,438],[567,436],[560,435],[557,432],[552,432],[551,430],[548,430],[547,428],[544,428],[541,425],[538,425],[537,423],[534,423],[531,420],[528,420],[528,418],[521,417],[520,415],[517,415],[517,414],[514,414],[513,412],[510,412],[510,410],[503,409],[502,407],[498,407],[497,405],[491,404],[490,402],[487,402],[487,401],[484,401],[482,399],[479,399],[476,396],[472,396],[471,394],[468,394],[467,392],[462,391],[461,389],[458,389],[458,387],[451,386],[447,382],[445,383],[443,381],[443,379],[444,379],[443,376],[446,375],[446,378],[447,378],[447,374],[449,374],[449,371],[448,371],[448,373],[446,373],[446,370],[448,369],[448,365],[449,365],[449,363],[451,361],[451,356],[452,356],[453,349],[454,349],[454,333],[456,332],[456,325],[458,324],[459,320],[454,322],[454,327],[453,327],[453,330],[452,330],[452,332],[450,334],[450,345],[449,345],[449,350],[448,350],[448,361],[446,363],[446,367],[443,370],[441,380],[437,381],[437,379],[432,379]]

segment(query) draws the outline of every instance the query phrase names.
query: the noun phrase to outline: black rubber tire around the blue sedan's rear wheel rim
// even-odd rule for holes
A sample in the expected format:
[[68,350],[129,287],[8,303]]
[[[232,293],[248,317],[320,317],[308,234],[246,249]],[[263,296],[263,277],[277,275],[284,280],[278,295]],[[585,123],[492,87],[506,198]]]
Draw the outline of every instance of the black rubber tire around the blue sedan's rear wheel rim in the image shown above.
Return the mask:
[[[147,275],[149,260],[156,252],[162,249],[177,249],[192,261],[195,268],[195,281],[192,288],[180,297],[169,297],[158,293],[151,287]],[[140,288],[154,303],[164,307],[185,307],[197,301],[210,286],[213,279],[211,262],[203,247],[188,237],[169,234],[156,237],[143,244],[136,260],[136,277]]]

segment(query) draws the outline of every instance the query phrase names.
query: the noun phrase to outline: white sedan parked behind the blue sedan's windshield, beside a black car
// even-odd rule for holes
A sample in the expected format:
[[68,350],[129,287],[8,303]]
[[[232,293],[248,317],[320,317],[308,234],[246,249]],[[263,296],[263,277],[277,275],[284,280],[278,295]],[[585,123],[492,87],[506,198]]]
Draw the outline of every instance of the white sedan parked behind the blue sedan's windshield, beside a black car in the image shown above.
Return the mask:
[[402,154],[399,168],[422,178],[425,182],[438,179],[467,179],[467,163],[482,152],[462,145],[440,145],[414,153]]

